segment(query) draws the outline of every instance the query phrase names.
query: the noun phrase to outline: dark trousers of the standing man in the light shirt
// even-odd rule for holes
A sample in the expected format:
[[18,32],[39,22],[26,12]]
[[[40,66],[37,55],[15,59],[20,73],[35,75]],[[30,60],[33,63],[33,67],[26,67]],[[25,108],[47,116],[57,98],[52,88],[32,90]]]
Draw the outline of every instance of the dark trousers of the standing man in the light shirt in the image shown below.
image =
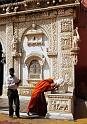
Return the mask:
[[15,115],[19,117],[20,101],[17,90],[8,89],[9,116],[13,116],[13,102],[15,104]]

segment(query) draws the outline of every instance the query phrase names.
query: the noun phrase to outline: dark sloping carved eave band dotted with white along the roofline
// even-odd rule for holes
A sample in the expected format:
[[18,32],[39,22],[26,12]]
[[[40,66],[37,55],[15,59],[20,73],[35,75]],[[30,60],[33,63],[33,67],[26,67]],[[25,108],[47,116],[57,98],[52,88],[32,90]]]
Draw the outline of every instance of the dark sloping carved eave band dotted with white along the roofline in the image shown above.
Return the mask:
[[[73,6],[74,4],[79,4],[79,1],[56,1],[55,0],[51,0],[51,1],[21,1],[21,2],[15,2],[15,3],[9,3],[9,4],[4,4],[4,5],[0,5],[0,8],[3,10],[1,11],[1,14],[4,13],[17,13],[17,12],[25,12],[25,11],[29,11],[29,10],[34,10],[34,9],[42,9],[42,8],[46,8],[46,7],[56,7],[59,6],[61,8],[62,6],[67,7],[67,4],[71,4],[71,6]],[[4,9],[3,9],[4,8]],[[6,10],[5,10],[6,9]],[[6,12],[6,13],[5,13]]]

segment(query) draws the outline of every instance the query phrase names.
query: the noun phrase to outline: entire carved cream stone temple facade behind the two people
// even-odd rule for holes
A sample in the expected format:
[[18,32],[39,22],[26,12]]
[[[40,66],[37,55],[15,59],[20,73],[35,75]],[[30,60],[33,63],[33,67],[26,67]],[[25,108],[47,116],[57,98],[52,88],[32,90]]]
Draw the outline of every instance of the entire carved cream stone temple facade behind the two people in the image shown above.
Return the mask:
[[49,118],[73,119],[74,66],[78,31],[74,28],[79,0],[22,0],[0,5],[3,93],[10,67],[22,80],[19,94],[30,96],[35,84],[48,77],[64,78],[64,86],[46,93]]

